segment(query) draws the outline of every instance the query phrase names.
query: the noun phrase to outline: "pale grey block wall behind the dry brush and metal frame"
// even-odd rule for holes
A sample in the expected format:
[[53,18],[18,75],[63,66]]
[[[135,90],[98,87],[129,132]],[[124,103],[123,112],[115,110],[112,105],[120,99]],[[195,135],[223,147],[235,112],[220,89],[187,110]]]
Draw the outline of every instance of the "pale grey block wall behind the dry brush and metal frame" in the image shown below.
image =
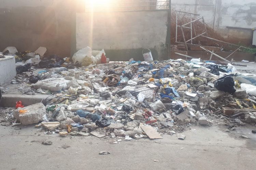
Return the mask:
[[[205,22],[228,41],[252,44],[252,31],[226,27],[256,27],[255,0],[172,0],[172,8],[200,14]],[[239,40],[238,40],[239,39]]]

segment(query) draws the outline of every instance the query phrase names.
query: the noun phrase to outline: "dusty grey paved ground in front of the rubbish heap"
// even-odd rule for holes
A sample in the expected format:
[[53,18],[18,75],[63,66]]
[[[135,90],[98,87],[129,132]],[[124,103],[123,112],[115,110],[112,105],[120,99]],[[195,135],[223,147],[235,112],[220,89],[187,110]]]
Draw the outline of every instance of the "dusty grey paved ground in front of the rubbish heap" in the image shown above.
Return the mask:
[[[0,169],[255,169],[252,128],[228,133],[221,126],[192,126],[183,133],[185,140],[164,135],[112,144],[109,138],[44,135],[32,125],[0,126]],[[53,144],[42,145],[44,140]],[[70,147],[59,148],[63,145]],[[99,155],[104,150],[111,154]]]

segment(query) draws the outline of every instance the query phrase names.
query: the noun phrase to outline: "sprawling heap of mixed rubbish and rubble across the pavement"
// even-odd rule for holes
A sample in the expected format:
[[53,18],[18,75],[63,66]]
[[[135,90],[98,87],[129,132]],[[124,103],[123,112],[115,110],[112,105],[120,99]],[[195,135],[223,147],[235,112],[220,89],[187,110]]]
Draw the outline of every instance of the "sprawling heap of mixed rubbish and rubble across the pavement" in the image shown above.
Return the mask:
[[239,73],[230,63],[200,58],[111,62],[104,50],[88,47],[73,58],[42,55],[19,53],[12,83],[23,94],[49,94],[46,103],[25,107],[17,99],[15,109],[4,110],[2,123],[35,124],[44,134],[63,137],[124,140],[161,139],[218,121],[227,131],[256,123],[256,76]]

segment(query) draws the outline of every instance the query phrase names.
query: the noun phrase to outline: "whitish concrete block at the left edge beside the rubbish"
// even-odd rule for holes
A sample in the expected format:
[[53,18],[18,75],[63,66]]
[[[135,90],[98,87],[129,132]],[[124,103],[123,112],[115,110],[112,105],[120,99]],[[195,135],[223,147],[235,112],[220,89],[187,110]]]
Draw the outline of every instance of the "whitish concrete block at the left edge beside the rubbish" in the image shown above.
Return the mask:
[[5,55],[0,58],[0,85],[10,82],[16,76],[16,66],[14,56]]

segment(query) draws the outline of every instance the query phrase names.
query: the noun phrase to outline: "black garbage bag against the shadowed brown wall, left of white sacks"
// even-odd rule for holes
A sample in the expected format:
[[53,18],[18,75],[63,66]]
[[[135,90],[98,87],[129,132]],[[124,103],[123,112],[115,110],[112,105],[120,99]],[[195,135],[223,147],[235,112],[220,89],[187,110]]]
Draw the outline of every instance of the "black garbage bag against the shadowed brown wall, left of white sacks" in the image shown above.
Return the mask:
[[40,68],[61,67],[61,65],[64,62],[65,61],[63,60],[63,58],[60,58],[60,56],[58,56],[58,55],[51,55],[48,58],[44,58],[43,60],[41,60],[41,62],[39,63],[39,67]]

